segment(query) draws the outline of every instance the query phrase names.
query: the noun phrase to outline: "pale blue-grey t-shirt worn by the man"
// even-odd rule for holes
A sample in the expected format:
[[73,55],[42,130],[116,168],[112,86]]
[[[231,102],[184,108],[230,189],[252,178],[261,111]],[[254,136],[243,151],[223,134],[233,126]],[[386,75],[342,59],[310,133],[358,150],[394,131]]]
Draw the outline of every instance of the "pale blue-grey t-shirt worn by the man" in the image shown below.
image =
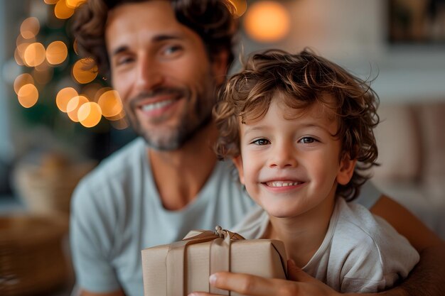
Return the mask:
[[[114,153],[77,186],[70,244],[77,286],[92,292],[122,287],[143,295],[141,250],[178,241],[191,229],[231,229],[257,205],[247,196],[230,162],[219,162],[195,201],[180,211],[162,207],[146,144],[137,138]],[[380,192],[363,190],[372,206]]]

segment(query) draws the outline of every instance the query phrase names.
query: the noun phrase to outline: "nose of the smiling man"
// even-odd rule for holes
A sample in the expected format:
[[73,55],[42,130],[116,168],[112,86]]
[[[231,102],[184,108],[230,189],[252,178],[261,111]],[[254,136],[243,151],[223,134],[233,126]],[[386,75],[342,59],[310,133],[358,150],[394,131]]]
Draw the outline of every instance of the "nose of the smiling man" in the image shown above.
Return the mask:
[[156,89],[163,83],[162,67],[156,59],[143,57],[139,59],[136,73],[136,87],[140,91]]

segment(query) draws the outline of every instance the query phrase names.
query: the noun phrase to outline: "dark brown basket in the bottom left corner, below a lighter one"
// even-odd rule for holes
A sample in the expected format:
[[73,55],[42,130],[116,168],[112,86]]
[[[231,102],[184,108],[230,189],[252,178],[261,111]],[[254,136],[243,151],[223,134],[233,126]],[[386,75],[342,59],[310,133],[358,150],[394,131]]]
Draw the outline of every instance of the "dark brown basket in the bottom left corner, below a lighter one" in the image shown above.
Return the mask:
[[44,295],[67,283],[66,220],[58,216],[0,216],[0,295]]

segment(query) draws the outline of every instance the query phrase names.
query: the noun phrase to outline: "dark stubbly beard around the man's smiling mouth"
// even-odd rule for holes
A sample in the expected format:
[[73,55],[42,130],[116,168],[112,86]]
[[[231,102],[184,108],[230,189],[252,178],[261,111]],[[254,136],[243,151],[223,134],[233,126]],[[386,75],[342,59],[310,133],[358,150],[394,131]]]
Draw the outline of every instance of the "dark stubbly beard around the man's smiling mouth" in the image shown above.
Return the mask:
[[[215,92],[209,92],[210,96],[205,96],[204,94],[195,94],[196,100],[193,110],[184,110],[181,114],[181,119],[178,121],[176,126],[162,126],[162,119],[159,119],[159,124],[161,127],[153,127],[151,129],[142,128],[140,122],[135,116],[134,104],[138,99],[145,99],[149,96],[156,96],[156,94],[178,94],[177,97],[182,97],[188,102],[191,101],[191,92],[184,91],[183,89],[172,89],[163,88],[157,89],[151,94],[139,94],[138,97],[133,99],[130,108],[134,116],[129,116],[130,124],[134,131],[144,138],[147,145],[156,150],[177,150],[181,148],[184,143],[190,141],[198,131],[208,126],[212,121],[212,109],[214,105]],[[193,112],[193,114],[189,114]],[[155,125],[156,126],[156,125]]]

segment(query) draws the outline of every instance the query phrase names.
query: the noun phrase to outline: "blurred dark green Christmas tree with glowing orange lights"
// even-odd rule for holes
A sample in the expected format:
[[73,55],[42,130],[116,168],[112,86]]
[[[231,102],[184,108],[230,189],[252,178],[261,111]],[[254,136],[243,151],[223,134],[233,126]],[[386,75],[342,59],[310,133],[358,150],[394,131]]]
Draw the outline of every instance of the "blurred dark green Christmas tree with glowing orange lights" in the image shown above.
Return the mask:
[[[97,70],[85,70],[92,60],[76,53],[70,17],[84,1],[28,1],[30,13],[16,40],[14,59],[21,74],[14,91],[26,126],[45,126],[63,143],[102,159],[134,135],[119,133],[128,126],[119,94]],[[112,143],[112,133],[122,141]]]

